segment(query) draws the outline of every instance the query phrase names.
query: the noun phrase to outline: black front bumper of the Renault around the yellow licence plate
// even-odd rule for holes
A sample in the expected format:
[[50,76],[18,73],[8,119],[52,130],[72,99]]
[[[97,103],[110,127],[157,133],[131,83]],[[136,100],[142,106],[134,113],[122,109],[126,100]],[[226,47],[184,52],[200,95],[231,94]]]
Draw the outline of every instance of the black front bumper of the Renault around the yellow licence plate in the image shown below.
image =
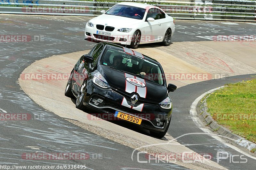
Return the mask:
[[[129,104],[131,96],[122,96],[115,89],[103,89],[95,85],[91,80],[87,82],[86,97],[84,98],[84,104],[92,110],[98,113],[107,113],[114,115],[116,111],[120,111],[142,119],[141,126],[147,130],[164,131],[170,121],[172,109],[161,109],[157,104],[144,103],[142,111],[137,111],[126,106],[121,105],[123,98],[125,97]],[[103,102],[95,105],[92,102],[93,99],[102,99]],[[139,101],[138,101],[139,102]],[[156,118],[160,119],[163,123],[159,125]]]

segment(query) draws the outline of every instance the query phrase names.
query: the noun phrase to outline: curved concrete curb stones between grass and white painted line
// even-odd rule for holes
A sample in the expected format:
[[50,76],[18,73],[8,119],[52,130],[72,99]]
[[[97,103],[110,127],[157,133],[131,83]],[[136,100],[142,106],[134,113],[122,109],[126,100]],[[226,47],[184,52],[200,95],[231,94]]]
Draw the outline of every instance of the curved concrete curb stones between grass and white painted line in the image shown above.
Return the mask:
[[203,100],[203,102],[201,102],[199,104],[199,112],[200,112],[200,116],[204,119],[205,123],[212,129],[212,131],[216,131],[218,132],[220,135],[227,137],[227,138],[231,138],[234,140],[234,142],[239,145],[242,146],[246,149],[248,149],[249,151],[251,151],[253,148],[256,148],[256,144],[246,140],[245,138],[236,135],[234,133],[232,133],[230,130],[228,130],[227,128],[219,125],[211,116],[210,113],[207,112],[208,108],[207,108],[207,103],[206,103],[206,99],[208,97],[205,97],[205,99]]

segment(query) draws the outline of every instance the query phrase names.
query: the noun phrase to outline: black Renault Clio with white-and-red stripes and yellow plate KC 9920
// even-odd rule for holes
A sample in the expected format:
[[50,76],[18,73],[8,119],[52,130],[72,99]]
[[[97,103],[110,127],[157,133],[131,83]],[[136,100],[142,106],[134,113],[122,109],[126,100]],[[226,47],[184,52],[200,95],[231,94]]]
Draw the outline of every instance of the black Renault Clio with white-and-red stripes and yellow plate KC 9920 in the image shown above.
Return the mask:
[[158,61],[129,48],[101,42],[83,55],[71,71],[65,96],[76,96],[76,108],[111,114],[141,125],[162,138],[172,114],[169,92]]

